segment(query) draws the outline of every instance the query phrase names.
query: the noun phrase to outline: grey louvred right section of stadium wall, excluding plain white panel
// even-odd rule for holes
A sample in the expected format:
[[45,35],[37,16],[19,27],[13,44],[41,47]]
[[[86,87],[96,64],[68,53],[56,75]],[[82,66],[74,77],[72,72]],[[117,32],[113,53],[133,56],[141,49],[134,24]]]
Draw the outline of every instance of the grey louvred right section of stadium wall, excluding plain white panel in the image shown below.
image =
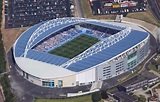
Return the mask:
[[129,55],[126,57],[122,56],[122,58],[117,61],[112,61],[111,63],[104,63],[102,66],[97,67],[97,81],[109,79],[111,77],[122,74],[130,69],[134,69],[142,61],[144,61],[150,52],[149,39],[141,48],[137,49],[136,51],[132,53],[135,53],[135,52],[137,56],[135,57],[136,64],[132,67],[128,67],[128,56]]

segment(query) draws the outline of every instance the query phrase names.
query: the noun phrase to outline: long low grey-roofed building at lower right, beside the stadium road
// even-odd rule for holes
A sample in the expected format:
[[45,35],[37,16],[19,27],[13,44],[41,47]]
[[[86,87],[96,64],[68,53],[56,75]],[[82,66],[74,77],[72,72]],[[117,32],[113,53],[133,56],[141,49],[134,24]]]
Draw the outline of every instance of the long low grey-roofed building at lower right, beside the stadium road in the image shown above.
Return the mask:
[[140,89],[142,87],[148,87],[159,81],[159,77],[151,72],[147,72],[143,75],[137,75],[128,81],[122,83],[118,86],[120,91],[130,93],[134,90]]

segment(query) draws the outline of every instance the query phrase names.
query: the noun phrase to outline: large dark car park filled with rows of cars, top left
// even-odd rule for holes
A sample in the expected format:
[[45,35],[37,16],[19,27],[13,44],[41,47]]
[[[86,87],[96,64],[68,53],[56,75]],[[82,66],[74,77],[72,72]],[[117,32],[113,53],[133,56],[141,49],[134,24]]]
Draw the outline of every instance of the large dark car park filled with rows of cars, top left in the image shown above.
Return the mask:
[[72,0],[7,0],[5,27],[33,26],[55,18],[72,17]]

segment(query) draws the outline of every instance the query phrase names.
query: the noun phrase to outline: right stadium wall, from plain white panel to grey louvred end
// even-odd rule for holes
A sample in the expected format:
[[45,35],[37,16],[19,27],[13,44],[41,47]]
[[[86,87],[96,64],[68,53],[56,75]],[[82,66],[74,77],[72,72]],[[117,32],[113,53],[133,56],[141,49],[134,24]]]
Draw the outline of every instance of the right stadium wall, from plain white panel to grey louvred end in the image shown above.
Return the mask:
[[[118,58],[118,60],[117,58],[112,58],[88,70],[80,72],[79,74],[76,75],[76,77],[81,79],[77,83],[79,83],[79,85],[87,85],[87,84],[94,83],[96,81],[112,78],[128,70],[134,69],[142,61],[144,61],[150,53],[150,49],[149,49],[150,38],[149,37],[150,36],[148,34],[148,37],[146,39],[144,39],[143,41],[141,41],[134,47],[126,50],[125,52],[117,55],[116,57]],[[131,60],[129,60],[128,56],[130,56],[133,53],[136,53],[136,55]],[[135,63],[135,64],[129,67],[128,66],[129,63]],[[93,69],[95,70],[95,75],[93,76],[93,79],[95,78],[95,80],[91,81],[90,78],[88,78],[87,76],[92,75],[91,70]],[[87,76],[84,77],[86,73],[87,73]]]

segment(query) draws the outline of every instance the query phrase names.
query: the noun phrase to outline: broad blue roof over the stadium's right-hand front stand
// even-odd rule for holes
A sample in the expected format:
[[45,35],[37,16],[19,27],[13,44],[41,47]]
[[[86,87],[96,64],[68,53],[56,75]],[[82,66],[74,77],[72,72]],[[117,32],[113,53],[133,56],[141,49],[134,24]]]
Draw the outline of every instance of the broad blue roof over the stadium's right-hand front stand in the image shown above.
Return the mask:
[[[136,34],[139,34],[138,36]],[[85,58],[83,60],[77,61],[76,63],[71,64],[68,69],[79,72],[84,69],[90,68],[92,66],[95,66],[97,64],[100,64],[106,60],[109,60],[110,58],[122,53],[123,51],[131,48],[132,46],[136,45],[143,39],[145,39],[148,36],[145,32],[140,32],[136,30],[132,30],[131,33],[118,43],[110,46],[107,49],[104,49],[92,56],[89,56],[88,58]]]

